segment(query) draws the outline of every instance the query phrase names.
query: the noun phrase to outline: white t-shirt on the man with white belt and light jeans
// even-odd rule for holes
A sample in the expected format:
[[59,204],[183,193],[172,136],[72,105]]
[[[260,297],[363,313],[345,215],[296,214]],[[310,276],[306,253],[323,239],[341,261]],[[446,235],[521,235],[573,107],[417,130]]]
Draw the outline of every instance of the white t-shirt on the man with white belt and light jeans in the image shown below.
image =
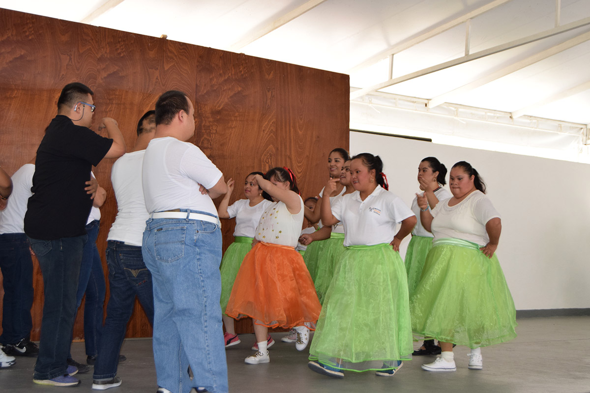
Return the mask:
[[221,171],[194,144],[173,137],[152,139],[142,169],[148,213],[190,209],[217,217],[211,197],[201,194],[199,184],[210,189],[221,176]]

